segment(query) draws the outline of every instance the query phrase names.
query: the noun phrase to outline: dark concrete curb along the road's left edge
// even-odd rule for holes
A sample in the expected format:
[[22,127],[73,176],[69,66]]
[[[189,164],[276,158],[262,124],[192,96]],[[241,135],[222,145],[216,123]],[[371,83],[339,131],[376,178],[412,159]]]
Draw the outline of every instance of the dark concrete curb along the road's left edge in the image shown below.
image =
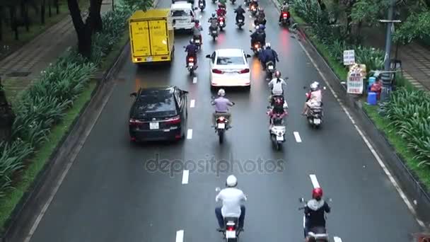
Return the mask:
[[105,71],[103,77],[99,79],[96,88],[91,93],[91,100],[82,108],[79,115],[71,125],[71,129],[64,135],[54,152],[50,156],[50,161],[45,164],[42,171],[35,178],[33,185],[25,192],[21,201],[16,205],[11,217],[6,221],[6,229],[1,234],[0,242],[21,240],[26,236],[26,232],[35,221],[35,212],[40,211],[47,200],[50,190],[54,187],[59,174],[64,171],[66,164],[70,162],[70,156],[74,147],[79,145],[80,139],[86,132],[85,127],[93,121],[91,116],[93,110],[100,108],[100,103],[112,90],[114,83],[110,79],[122,67],[124,60],[129,57],[129,41],[122,47],[121,54],[115,62]]

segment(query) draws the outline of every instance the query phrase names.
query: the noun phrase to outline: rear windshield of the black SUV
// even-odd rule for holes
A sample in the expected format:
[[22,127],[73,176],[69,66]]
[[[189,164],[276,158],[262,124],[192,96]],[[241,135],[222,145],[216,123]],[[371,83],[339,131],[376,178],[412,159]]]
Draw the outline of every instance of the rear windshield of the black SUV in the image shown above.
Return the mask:
[[151,93],[139,96],[139,100],[137,100],[136,103],[136,115],[141,118],[176,115],[176,104],[173,95],[160,94],[162,93]]

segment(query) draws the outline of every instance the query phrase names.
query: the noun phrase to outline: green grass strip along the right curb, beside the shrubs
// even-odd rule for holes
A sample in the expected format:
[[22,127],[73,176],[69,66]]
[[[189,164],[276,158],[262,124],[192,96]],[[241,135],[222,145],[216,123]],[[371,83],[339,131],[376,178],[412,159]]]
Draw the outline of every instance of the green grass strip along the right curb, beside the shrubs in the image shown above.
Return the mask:
[[[294,21],[297,19],[300,19],[299,21],[303,21],[301,18],[298,18],[298,16],[295,15],[296,13],[291,11],[291,15],[294,18]],[[297,21],[298,22],[298,21]],[[340,80],[346,80],[348,71],[347,69],[342,66],[337,60],[330,57],[330,54],[327,50],[327,47],[322,44],[315,36],[312,34],[312,30],[309,28],[302,28],[303,31],[308,35],[308,38],[310,39],[310,42],[315,46],[315,48],[320,52],[322,57],[327,61],[329,66],[332,68],[332,70],[335,72],[337,78]],[[397,74],[396,76],[397,85],[399,86],[405,86],[408,90],[416,90],[416,88],[407,80],[405,77],[401,76],[400,74]],[[418,166],[419,161],[414,159],[413,151],[410,151],[407,148],[407,141],[405,139],[402,139],[398,134],[395,133],[395,130],[390,128],[390,121],[385,119],[385,117],[382,117],[378,113],[378,106],[377,105],[368,105],[366,101],[362,101],[364,111],[367,113],[368,117],[371,118],[373,123],[376,125],[376,127],[385,134],[385,137],[387,137],[388,142],[391,144],[391,146],[394,147],[395,152],[398,156],[400,156],[403,161],[405,162],[407,168],[409,168],[409,171],[412,171],[412,173],[415,175],[418,180],[424,184],[426,191],[430,192],[430,168],[426,168],[424,166]]]

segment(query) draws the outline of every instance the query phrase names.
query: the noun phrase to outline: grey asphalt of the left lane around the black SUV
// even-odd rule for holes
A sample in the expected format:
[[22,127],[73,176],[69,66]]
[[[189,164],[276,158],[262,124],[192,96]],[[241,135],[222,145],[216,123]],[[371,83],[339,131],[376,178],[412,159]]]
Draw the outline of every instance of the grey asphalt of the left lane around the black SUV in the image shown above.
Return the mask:
[[[104,236],[115,238],[122,228],[127,230],[129,241],[141,240],[139,236],[132,236],[141,234],[142,231],[163,241],[175,236],[174,228],[179,224],[178,221],[163,220],[173,214],[170,209],[174,208],[168,201],[175,200],[175,196],[180,195],[171,192],[178,190],[176,186],[180,185],[181,178],[151,173],[144,165],[145,161],[156,159],[158,154],[163,154],[169,161],[183,160],[186,141],[134,145],[129,142],[127,129],[129,107],[132,103],[129,93],[136,91],[136,83],[149,83],[149,86],[153,86],[153,83],[155,86],[172,84],[187,89],[187,80],[181,77],[173,78],[173,74],[165,70],[165,65],[155,65],[150,70],[145,67],[137,68],[127,60],[117,76],[117,85],[112,96],[35,231],[32,241],[50,241],[52,233],[55,237],[62,238],[62,241],[78,238],[81,241],[106,241]],[[151,71],[152,76],[143,74]],[[177,71],[180,73],[180,69]],[[185,85],[181,86],[182,84]],[[139,207],[134,206],[134,201]],[[159,206],[156,205],[158,203]],[[150,207],[142,204],[149,204]],[[162,208],[165,213],[158,208]],[[112,219],[121,218],[122,214],[139,215],[131,217],[129,223],[125,224],[124,219]],[[156,219],[158,217],[160,219]],[[64,221],[59,222],[60,218]],[[148,218],[155,220],[145,226]],[[162,221],[163,224],[157,224]],[[171,227],[173,235],[165,231],[149,233],[154,224],[161,228]],[[81,233],[76,234],[76,231]],[[118,239],[123,238],[124,236]]]

